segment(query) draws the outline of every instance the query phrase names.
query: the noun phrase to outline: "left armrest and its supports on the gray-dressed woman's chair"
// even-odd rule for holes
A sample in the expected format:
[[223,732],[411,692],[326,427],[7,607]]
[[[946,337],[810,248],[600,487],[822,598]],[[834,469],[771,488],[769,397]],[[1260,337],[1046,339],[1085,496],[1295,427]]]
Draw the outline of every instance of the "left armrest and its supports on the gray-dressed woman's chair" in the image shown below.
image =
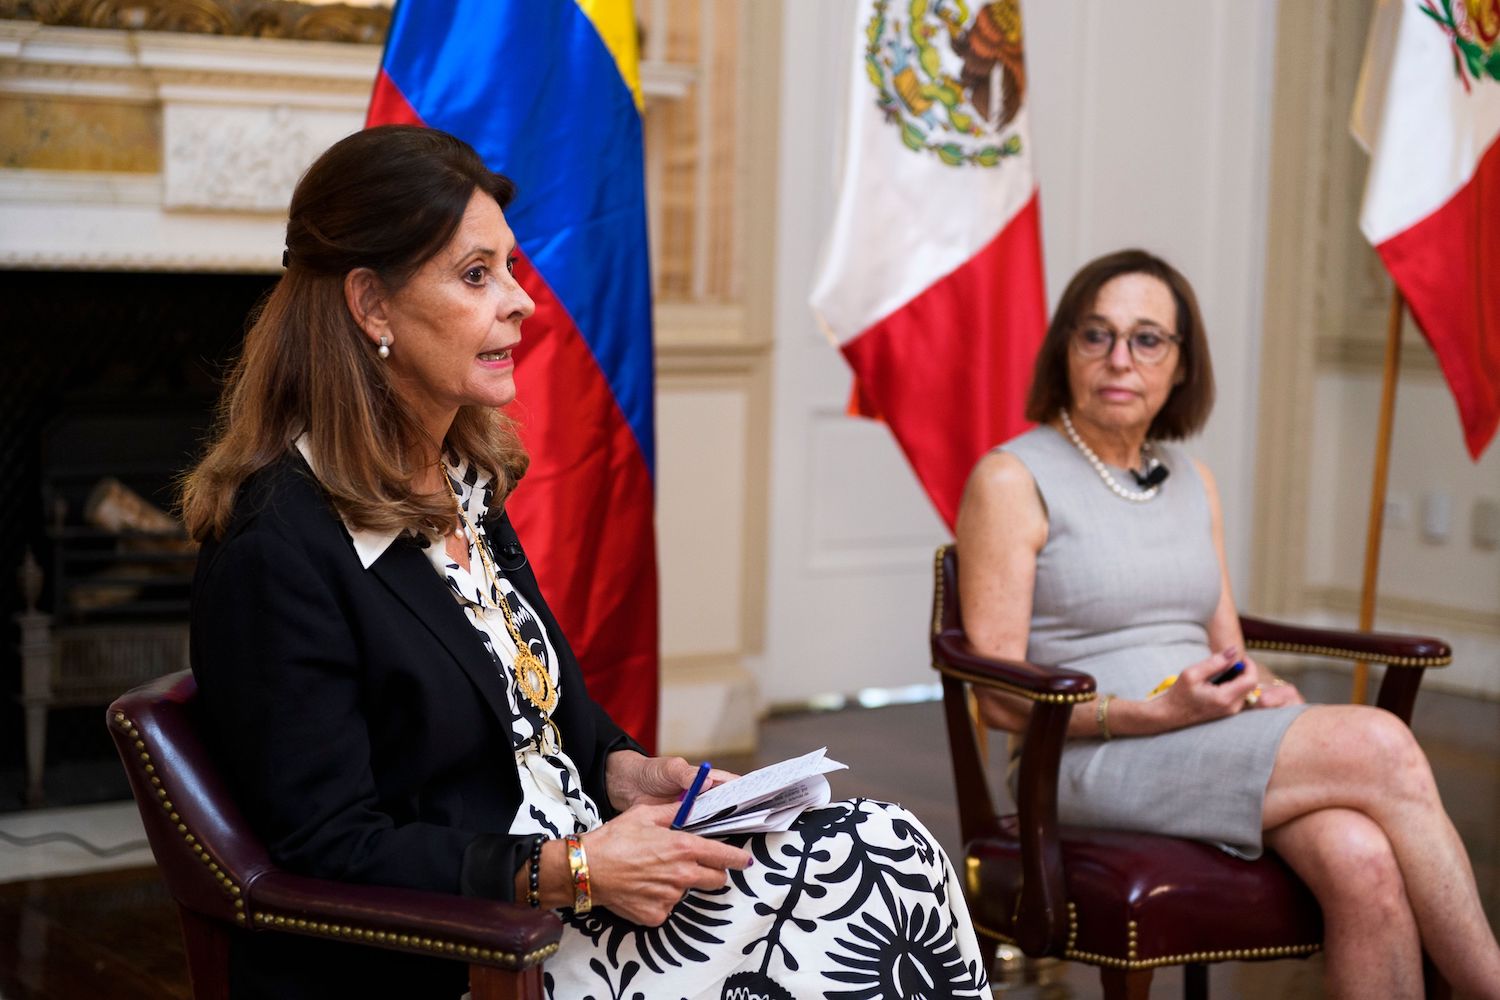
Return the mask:
[[957,631],[932,637],[933,666],[944,675],[944,711],[954,759],[960,837],[968,844],[999,825],[969,712],[966,684],[1029,699],[1022,738],[1016,813],[1022,841],[1017,943],[1028,955],[1060,955],[1068,942],[1068,894],[1058,838],[1058,766],[1072,706],[1094,699],[1094,678],[1080,670],[984,657]]

